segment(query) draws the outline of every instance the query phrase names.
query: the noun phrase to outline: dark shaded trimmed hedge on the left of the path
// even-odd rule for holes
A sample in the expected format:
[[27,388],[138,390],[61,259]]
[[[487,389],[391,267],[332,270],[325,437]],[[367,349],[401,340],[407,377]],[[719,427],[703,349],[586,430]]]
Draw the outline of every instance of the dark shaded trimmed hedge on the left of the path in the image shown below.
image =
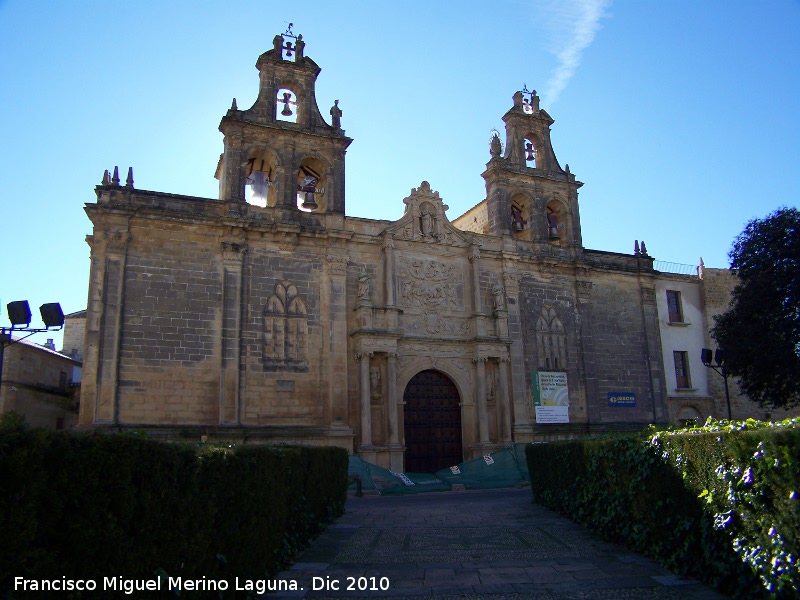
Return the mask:
[[6,418],[0,595],[16,576],[267,578],[342,514],[347,461],[341,448],[198,447]]

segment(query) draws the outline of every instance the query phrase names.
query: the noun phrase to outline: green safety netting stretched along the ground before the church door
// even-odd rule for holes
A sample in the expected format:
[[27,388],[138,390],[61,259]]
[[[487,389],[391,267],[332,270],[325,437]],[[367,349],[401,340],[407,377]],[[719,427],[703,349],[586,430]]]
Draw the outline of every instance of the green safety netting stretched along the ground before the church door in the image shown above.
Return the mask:
[[356,490],[354,475],[357,475],[364,493],[382,495],[448,491],[456,484],[468,490],[505,488],[530,481],[525,444],[514,444],[434,474],[396,473],[351,456],[349,474],[350,491]]

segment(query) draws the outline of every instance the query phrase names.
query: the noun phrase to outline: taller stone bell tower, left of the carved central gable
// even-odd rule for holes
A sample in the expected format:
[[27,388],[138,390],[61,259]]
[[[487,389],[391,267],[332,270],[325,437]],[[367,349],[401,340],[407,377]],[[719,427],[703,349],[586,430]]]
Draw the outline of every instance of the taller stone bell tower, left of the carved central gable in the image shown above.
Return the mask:
[[[220,200],[284,211],[345,213],[345,153],[352,140],[341,127],[339,101],[331,124],[317,106],[320,68],[305,55],[292,24],[258,57],[258,98],[222,118],[224,152],[216,177]],[[285,214],[285,213],[284,213]]]

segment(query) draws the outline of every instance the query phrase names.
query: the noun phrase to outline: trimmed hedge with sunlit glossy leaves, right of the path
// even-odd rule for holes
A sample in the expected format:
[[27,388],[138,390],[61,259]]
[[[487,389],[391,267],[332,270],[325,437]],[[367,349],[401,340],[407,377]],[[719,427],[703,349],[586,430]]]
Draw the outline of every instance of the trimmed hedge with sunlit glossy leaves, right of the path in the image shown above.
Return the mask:
[[526,448],[534,500],[687,577],[747,598],[800,593],[800,422]]

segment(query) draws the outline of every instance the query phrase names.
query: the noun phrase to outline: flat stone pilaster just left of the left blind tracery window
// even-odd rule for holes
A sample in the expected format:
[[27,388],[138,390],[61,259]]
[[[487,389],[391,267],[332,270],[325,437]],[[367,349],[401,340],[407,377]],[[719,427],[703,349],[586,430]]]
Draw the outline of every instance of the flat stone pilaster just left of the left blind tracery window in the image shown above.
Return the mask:
[[244,240],[222,242],[222,364],[220,425],[239,423],[239,359],[242,324],[242,262]]

